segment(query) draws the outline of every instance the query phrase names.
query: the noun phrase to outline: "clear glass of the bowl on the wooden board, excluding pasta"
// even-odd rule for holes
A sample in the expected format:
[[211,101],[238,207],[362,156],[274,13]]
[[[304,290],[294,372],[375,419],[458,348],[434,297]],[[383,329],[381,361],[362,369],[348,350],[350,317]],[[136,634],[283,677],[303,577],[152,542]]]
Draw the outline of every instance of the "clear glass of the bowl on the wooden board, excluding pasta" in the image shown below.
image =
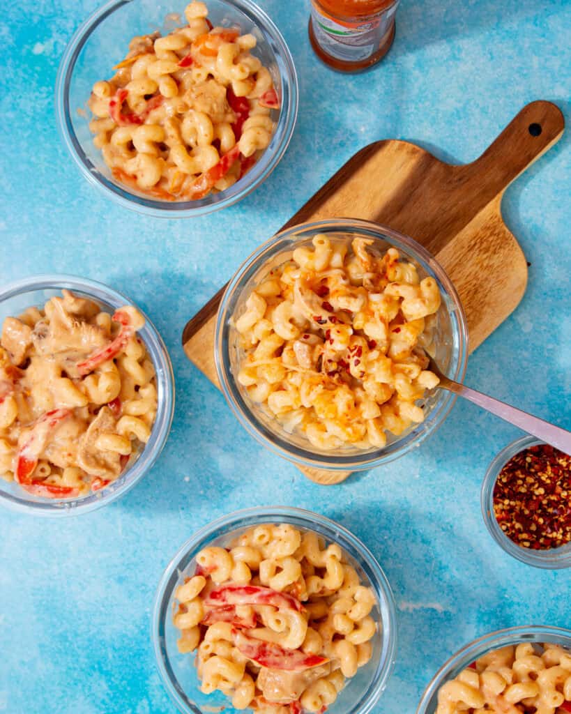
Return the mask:
[[428,393],[424,400],[425,421],[400,437],[387,433],[387,445],[383,448],[363,451],[355,447],[344,447],[336,451],[319,451],[310,445],[305,436],[285,431],[271,413],[266,413],[253,403],[234,377],[238,374],[242,352],[238,347],[237,333],[231,325],[231,318],[243,311],[246,298],[256,284],[271,269],[291,258],[295,248],[311,246],[316,233],[327,233],[333,238],[373,238],[375,247],[381,250],[395,246],[403,258],[415,263],[421,278],[431,276],[437,281],[443,299],[436,313],[433,356],[443,373],[457,382],[463,381],[466,369],[468,328],[458,293],[443,268],[412,238],[377,223],[347,218],[293,226],[263,243],[238,268],[223,295],[214,340],[218,381],[232,411],[254,438],[298,466],[326,468],[330,471],[363,471],[393,461],[419,446],[444,421],[455,402],[455,396],[443,389]]

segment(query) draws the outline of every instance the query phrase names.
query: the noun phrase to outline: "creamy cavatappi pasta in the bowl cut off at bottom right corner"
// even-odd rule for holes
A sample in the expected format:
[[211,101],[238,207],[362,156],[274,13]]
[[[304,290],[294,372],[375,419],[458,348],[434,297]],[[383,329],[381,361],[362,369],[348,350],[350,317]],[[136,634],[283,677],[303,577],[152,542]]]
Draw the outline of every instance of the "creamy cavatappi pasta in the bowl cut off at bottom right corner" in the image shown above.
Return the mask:
[[522,643],[492,650],[446,682],[436,714],[568,714],[571,651]]

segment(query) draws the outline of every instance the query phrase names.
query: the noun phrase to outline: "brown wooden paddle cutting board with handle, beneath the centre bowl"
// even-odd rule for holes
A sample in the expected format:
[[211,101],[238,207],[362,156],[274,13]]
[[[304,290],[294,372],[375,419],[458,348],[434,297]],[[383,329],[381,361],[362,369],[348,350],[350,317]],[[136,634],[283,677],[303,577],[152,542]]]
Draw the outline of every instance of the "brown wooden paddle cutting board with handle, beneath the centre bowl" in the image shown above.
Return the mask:
[[[503,193],[564,129],[555,104],[534,101],[479,159],[458,166],[407,141],[376,141],[349,159],[283,228],[328,218],[361,218],[422,243],[458,290],[473,351],[515,310],[527,283],[525,256],[502,218]],[[187,323],[182,338],[188,359],[218,388],[214,329],[224,287]],[[350,475],[300,470],[322,484],[340,483]]]

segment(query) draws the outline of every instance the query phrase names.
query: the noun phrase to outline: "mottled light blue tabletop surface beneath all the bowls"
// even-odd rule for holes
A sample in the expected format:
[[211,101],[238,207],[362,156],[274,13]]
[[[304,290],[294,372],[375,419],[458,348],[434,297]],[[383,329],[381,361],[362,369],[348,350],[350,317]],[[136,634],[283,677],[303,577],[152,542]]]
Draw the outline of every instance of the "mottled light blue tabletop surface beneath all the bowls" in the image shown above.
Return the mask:
[[[79,519],[0,513],[0,712],[171,714],[153,662],[156,583],[212,518],[281,503],[321,511],[362,538],[398,603],[398,662],[376,712],[414,710],[435,670],[489,630],[571,625],[569,570],[504,555],[485,531],[485,468],[517,430],[458,403],[423,448],[325,489],[266,453],[181,349],[184,323],[363,144],[418,141],[470,161],[521,106],[555,101],[571,123],[569,0],[403,0],[373,72],[325,69],[308,2],[261,0],[292,49],[298,127],[273,176],[238,206],[194,221],[108,203],[66,155],[53,88],[66,42],[97,0],[21,0],[0,24],[0,280],[61,271],[140,303],[176,373],[173,430],[151,473]],[[532,263],[526,296],[470,359],[467,382],[571,428],[571,129],[507,191],[507,225]]]

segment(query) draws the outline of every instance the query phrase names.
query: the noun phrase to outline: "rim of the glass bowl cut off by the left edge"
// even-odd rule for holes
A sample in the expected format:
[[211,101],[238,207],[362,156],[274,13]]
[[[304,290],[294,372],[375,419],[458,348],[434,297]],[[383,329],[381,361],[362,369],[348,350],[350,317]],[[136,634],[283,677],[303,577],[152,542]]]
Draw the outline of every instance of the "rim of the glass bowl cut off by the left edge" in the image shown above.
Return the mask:
[[[83,496],[77,500],[70,499],[51,501],[49,498],[42,501],[27,501],[16,499],[0,491],[0,503],[11,511],[26,513],[28,515],[41,516],[44,518],[66,518],[71,516],[79,516],[82,513],[95,511],[97,508],[106,506],[108,503],[115,501],[123,496],[127,491],[131,491],[133,486],[141,481],[141,478],[149,471],[158,457],[163,451],[166,444],[168,433],[171,431],[171,424],[174,414],[174,377],[171,358],[163,342],[163,338],[153,325],[152,321],[146,313],[128,296],[123,293],[106,286],[99,281],[74,276],[67,273],[42,273],[34,276],[27,276],[16,281],[8,283],[0,289],[0,304],[5,303],[24,293],[41,291],[41,290],[60,290],[68,288],[71,291],[78,290],[86,295],[94,298],[95,301],[108,301],[110,304],[117,303],[121,305],[132,305],[137,308],[145,318],[145,326],[143,331],[146,332],[145,345],[148,348],[149,356],[153,360],[153,366],[158,373],[160,370],[163,373],[163,388],[164,399],[158,403],[157,413],[153,428],[151,429],[151,447],[148,450],[148,445],[143,448],[135,463],[130,466],[125,473],[119,476],[124,479],[120,486],[113,491],[99,491],[97,494],[90,493],[88,496]],[[155,434],[156,436],[153,436]],[[126,478],[129,474],[130,478]]]

